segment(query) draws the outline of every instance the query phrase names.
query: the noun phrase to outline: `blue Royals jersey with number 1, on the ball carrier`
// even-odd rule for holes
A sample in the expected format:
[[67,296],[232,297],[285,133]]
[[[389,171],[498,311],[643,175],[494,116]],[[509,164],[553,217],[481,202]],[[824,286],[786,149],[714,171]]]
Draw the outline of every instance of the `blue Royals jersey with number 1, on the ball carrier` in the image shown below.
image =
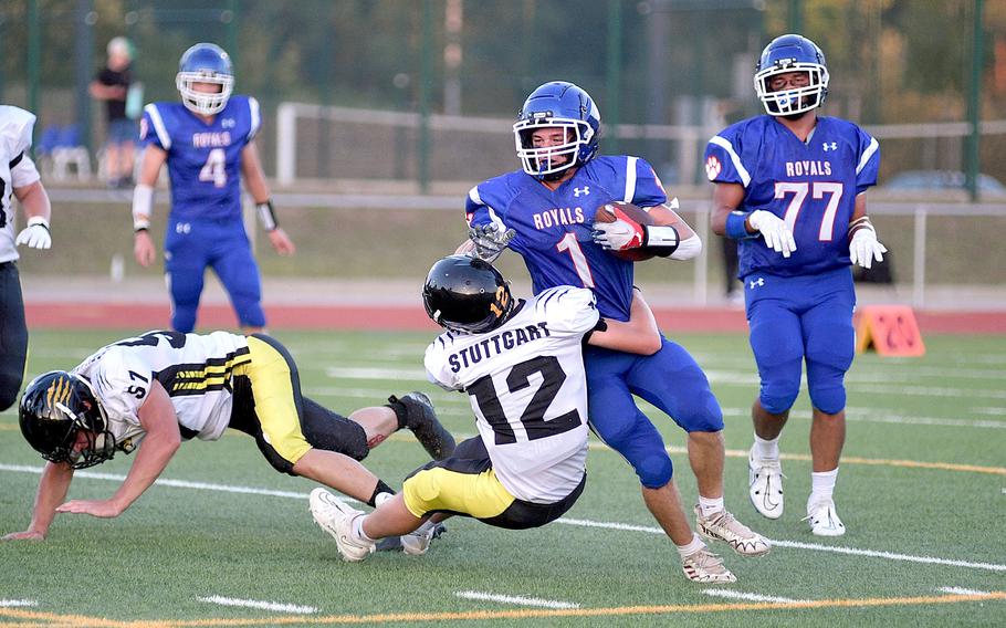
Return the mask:
[[628,321],[632,262],[591,238],[597,208],[611,201],[654,207],[667,193],[646,160],[601,156],[555,191],[523,170],[489,179],[471,189],[465,210],[471,224],[496,222],[516,231],[510,248],[524,258],[535,294],[557,285],[590,287],[601,316]]

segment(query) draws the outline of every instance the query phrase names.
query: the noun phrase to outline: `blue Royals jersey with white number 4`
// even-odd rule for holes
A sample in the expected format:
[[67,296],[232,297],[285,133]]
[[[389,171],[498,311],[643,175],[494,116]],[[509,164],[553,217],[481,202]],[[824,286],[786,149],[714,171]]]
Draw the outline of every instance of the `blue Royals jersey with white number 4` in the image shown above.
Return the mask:
[[172,220],[240,219],[241,151],[260,125],[249,96],[231,96],[210,124],[181,103],[144,107],[140,139],[168,154]]

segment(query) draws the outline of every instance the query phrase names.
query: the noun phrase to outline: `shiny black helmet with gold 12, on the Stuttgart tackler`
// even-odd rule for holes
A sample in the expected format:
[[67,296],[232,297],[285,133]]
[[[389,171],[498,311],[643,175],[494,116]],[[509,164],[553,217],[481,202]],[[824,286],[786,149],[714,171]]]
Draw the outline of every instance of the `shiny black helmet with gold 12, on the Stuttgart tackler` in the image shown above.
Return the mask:
[[426,313],[452,332],[481,334],[503,324],[513,310],[510,286],[489,262],[450,255],[433,264],[422,286]]

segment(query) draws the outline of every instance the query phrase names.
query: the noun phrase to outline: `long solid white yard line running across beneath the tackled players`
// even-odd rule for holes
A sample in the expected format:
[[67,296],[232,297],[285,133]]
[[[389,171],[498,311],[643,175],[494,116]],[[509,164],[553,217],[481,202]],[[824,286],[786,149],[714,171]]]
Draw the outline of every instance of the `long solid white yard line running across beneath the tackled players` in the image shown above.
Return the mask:
[[[21,464],[0,464],[0,471],[11,471],[20,473],[42,473],[42,467],[28,467]],[[77,478],[87,478],[95,480],[113,480],[122,482],[125,480],[125,475],[118,475],[113,473],[95,473],[93,471],[77,471],[74,477]],[[160,484],[163,486],[172,486],[179,489],[196,489],[203,491],[220,491],[228,493],[241,493],[241,494],[254,494],[254,495],[266,495],[275,498],[287,498],[287,499],[297,499],[306,500],[307,493],[300,493],[293,491],[275,491],[271,489],[256,489],[252,486],[235,486],[230,484],[211,484],[206,482],[189,482],[185,480],[169,480],[165,478],[159,478],[155,484]],[[647,525],[633,525],[627,523],[616,523],[616,522],[604,522],[604,521],[591,521],[583,519],[557,519],[557,523],[564,523],[566,525],[576,525],[579,527],[596,527],[602,530],[619,530],[625,532],[645,532],[650,534],[664,534],[663,530],[653,526]],[[921,563],[928,565],[946,565],[951,567],[966,567],[971,569],[982,569],[989,572],[1006,572],[1006,565],[998,565],[994,563],[977,563],[973,561],[957,561],[953,558],[940,558],[936,556],[914,556],[911,554],[899,554],[894,552],[881,552],[876,550],[858,550],[855,547],[841,547],[837,545],[820,545],[817,543],[803,543],[798,541],[773,541],[769,540],[769,543],[776,547],[790,547],[794,550],[807,550],[811,552],[828,552],[832,554],[846,554],[850,556],[867,556],[871,558],[883,558],[887,561],[898,561],[907,563]]]

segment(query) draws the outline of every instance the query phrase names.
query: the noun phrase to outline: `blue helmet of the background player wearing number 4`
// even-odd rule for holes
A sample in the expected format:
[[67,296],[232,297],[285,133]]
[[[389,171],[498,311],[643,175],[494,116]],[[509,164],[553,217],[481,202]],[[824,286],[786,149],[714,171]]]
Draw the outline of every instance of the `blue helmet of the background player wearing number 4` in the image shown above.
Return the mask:
[[[199,92],[192,87],[196,83],[220,85],[220,91]],[[219,114],[234,88],[230,55],[214,43],[197,43],[181,55],[175,86],[181,92],[181,102],[190,112],[207,116]]]

